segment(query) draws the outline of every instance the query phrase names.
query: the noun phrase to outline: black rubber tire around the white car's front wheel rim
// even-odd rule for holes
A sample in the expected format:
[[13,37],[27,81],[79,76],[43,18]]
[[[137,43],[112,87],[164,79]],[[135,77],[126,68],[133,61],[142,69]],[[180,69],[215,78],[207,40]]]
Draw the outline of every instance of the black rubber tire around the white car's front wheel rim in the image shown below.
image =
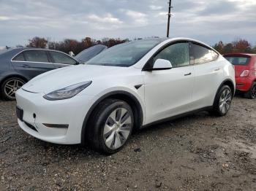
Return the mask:
[[[94,130],[92,130],[93,133],[93,143],[94,143],[94,148],[97,149],[99,152],[102,152],[106,155],[111,155],[113,153],[118,152],[120,149],[122,149],[124,147],[125,144],[127,144],[127,141],[129,139],[129,136],[132,133],[132,128],[130,130],[129,136],[127,137],[127,141],[118,149],[110,149],[105,145],[105,141],[103,138],[103,131],[104,131],[104,126],[105,126],[105,122],[108,120],[109,115],[111,114],[111,112],[113,112],[115,109],[118,108],[124,108],[127,109],[127,111],[129,112],[131,119],[132,119],[132,128],[134,126],[134,116],[133,116],[133,112],[132,112],[132,108],[129,106],[129,104],[127,104],[124,101],[120,101],[120,100],[108,100],[105,101],[105,104],[103,104],[101,109],[98,109],[97,114],[94,118],[94,122],[91,122],[91,128],[94,128]],[[94,123],[94,124],[93,124]],[[92,133],[92,132],[88,132],[88,133]]]

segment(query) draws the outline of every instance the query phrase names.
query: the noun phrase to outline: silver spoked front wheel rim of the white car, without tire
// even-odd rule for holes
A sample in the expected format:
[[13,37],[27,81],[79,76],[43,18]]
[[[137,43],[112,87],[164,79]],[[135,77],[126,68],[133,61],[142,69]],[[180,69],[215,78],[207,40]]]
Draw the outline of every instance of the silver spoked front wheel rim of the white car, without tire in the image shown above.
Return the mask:
[[132,130],[132,117],[124,108],[115,109],[105,122],[103,137],[109,149],[118,149],[127,141]]

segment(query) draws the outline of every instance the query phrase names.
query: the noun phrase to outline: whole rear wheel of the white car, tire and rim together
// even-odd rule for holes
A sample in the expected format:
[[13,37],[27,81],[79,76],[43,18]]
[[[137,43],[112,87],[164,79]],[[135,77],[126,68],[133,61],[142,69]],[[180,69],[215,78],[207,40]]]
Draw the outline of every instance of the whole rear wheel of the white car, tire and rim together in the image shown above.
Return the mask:
[[219,117],[225,116],[230,110],[232,99],[232,90],[228,85],[223,85],[216,95],[211,113]]

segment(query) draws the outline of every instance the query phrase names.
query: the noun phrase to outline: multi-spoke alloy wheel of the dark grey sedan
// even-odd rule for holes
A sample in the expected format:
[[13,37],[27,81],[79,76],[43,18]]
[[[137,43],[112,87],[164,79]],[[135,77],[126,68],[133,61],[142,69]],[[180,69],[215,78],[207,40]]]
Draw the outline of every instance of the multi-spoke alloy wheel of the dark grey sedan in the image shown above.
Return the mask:
[[15,92],[24,85],[24,82],[20,79],[11,79],[4,85],[4,93],[9,98],[15,98]]

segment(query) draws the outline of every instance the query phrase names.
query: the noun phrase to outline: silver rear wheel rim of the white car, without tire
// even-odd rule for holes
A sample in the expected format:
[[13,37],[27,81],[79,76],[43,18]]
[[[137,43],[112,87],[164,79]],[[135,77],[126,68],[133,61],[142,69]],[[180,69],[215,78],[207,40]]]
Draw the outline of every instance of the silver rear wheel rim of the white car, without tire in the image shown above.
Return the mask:
[[223,90],[222,95],[220,95],[219,98],[219,111],[222,112],[222,114],[226,114],[228,112],[230,109],[231,101],[232,95],[230,90]]

